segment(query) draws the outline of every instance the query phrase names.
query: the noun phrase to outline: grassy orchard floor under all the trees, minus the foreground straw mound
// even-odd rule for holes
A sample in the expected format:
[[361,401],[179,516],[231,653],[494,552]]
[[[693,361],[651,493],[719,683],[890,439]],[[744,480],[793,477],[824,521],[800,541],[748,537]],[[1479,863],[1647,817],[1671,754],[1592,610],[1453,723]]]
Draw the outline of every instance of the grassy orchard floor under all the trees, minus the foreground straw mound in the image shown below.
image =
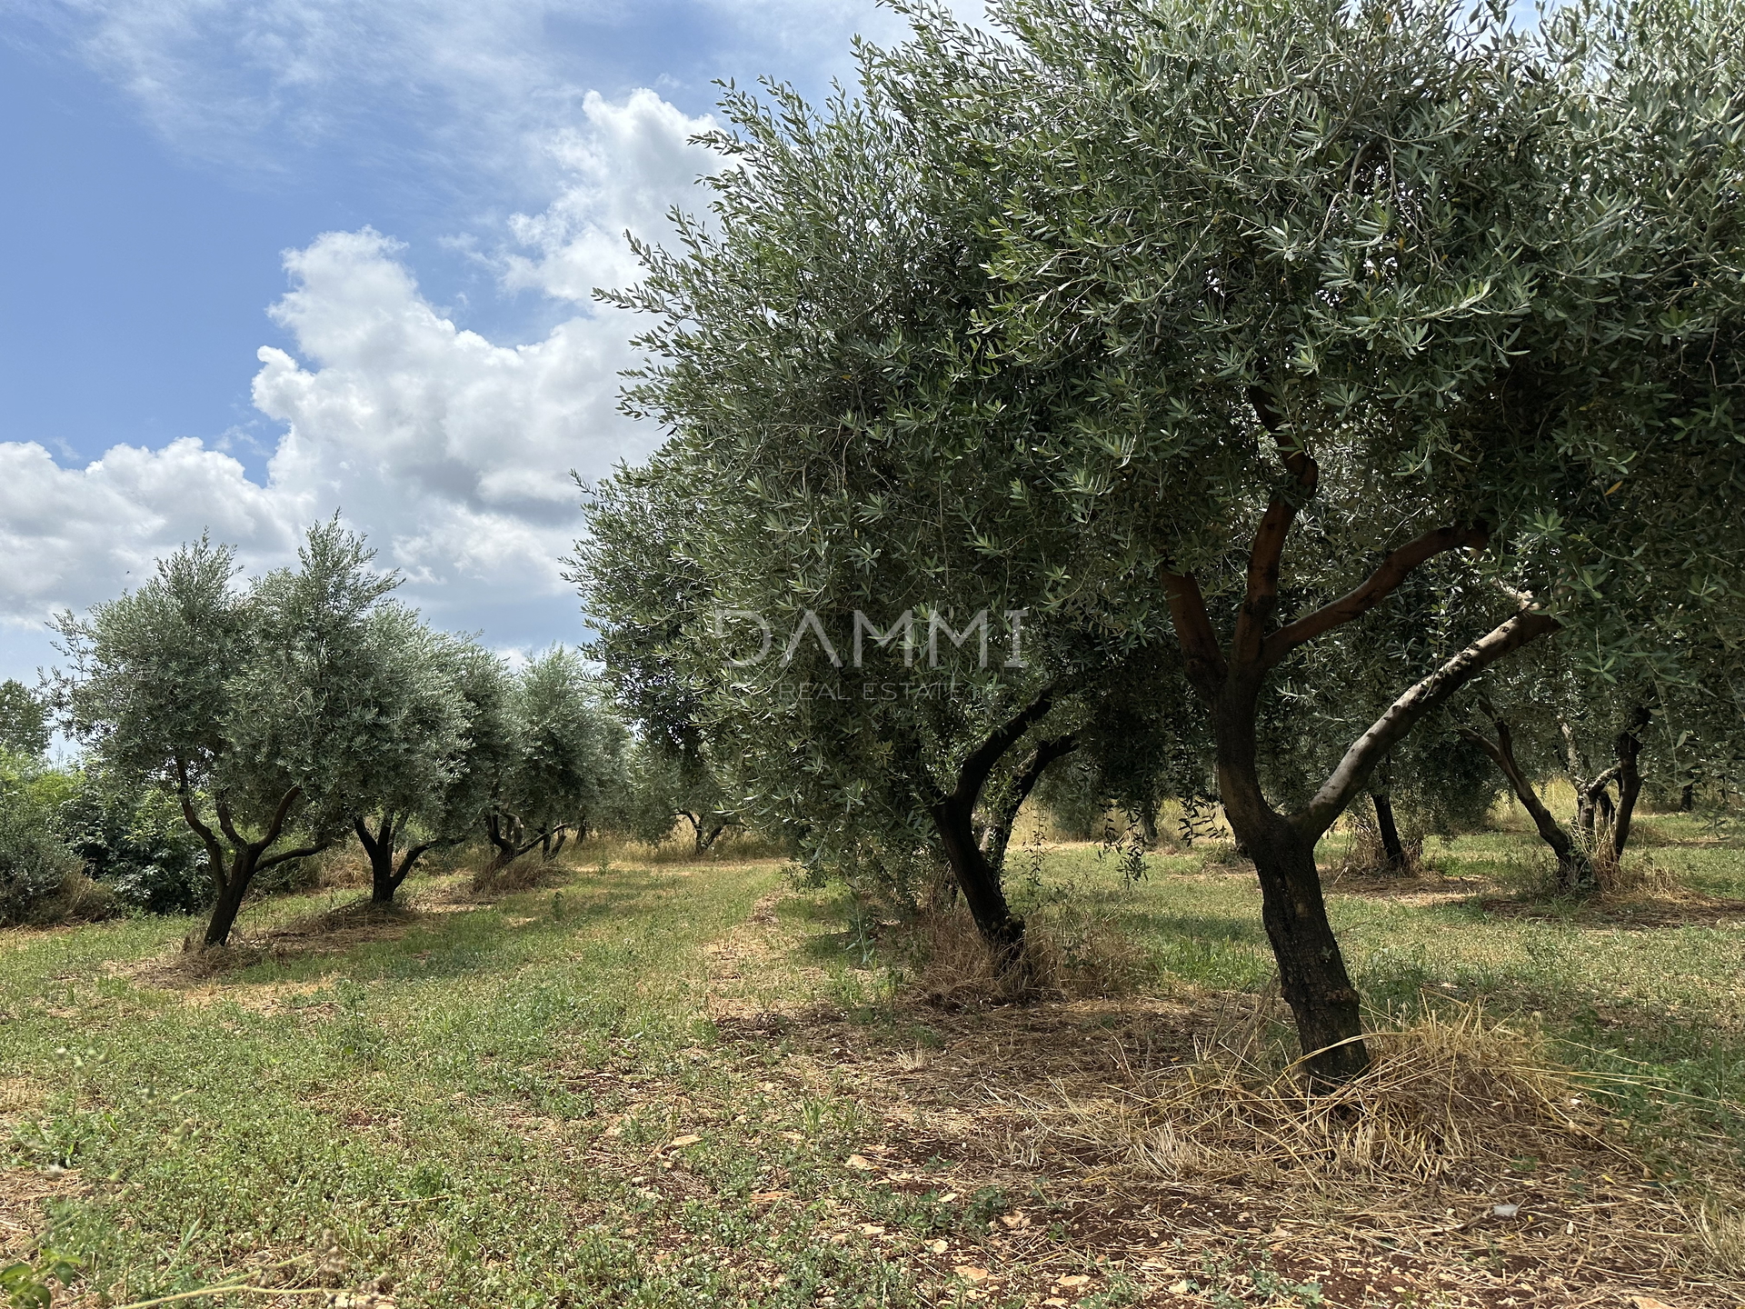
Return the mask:
[[[1745,855],[1647,827],[1682,892],[1546,901],[1504,831],[1330,897],[1375,1026],[1482,1005],[1591,1087],[1612,1164],[1508,1145],[1372,1176],[1354,1218],[1356,1192],[1232,1171],[1246,1147],[1195,1176],[1110,1115],[1084,1131],[1096,1096],[1180,1126],[1159,1107],[1208,1052],[1279,1044],[1253,876],[1218,848],[1133,885],[1094,846],[1014,852],[1077,990],[979,1009],[921,1004],[888,930],[775,860],[583,846],[548,885],[433,876],[387,916],[262,901],[216,972],[185,920],[0,934],[0,1243],[77,1257],[70,1304],[248,1278],[183,1304],[1733,1306]],[[1602,1237],[1637,1210],[1665,1222],[1632,1262]]]

